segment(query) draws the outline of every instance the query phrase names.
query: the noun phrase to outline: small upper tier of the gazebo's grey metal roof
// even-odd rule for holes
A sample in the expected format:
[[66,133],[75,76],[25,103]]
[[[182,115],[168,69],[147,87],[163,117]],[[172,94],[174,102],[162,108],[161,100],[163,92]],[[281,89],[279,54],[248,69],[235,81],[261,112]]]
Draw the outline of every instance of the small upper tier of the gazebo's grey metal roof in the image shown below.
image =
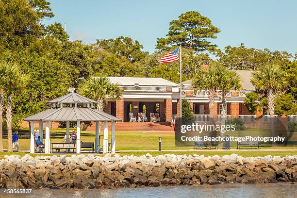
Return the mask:
[[57,99],[52,99],[49,101],[49,103],[97,103],[97,101],[88,99],[82,95],[72,92]]

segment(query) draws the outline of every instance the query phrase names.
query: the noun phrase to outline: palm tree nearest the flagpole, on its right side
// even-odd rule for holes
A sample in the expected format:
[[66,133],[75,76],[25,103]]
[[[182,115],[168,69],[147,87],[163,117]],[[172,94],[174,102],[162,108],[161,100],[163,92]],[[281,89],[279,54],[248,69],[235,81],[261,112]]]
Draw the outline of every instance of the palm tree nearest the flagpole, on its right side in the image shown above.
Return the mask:
[[208,70],[199,68],[196,76],[192,82],[192,90],[197,93],[201,90],[206,90],[208,95],[209,117],[211,122],[213,121],[214,112],[214,98],[217,88],[217,66],[210,65]]

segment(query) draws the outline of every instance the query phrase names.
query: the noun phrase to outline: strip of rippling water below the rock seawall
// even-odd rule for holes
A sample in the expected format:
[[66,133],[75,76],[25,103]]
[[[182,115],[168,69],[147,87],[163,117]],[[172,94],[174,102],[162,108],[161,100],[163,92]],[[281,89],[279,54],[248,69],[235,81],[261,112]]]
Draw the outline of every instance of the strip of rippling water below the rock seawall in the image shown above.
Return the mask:
[[[0,198],[3,196],[1,189]],[[220,184],[118,189],[33,190],[31,195],[5,198],[297,198],[297,184]]]

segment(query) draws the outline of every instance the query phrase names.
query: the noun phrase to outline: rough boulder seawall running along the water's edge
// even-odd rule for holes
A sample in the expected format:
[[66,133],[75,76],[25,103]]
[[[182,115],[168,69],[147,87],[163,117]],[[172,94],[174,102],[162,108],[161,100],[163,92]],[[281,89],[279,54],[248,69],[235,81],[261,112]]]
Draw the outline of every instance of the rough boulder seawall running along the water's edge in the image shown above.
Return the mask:
[[66,157],[28,154],[0,160],[2,188],[117,188],[297,181],[297,155],[223,157],[203,155]]

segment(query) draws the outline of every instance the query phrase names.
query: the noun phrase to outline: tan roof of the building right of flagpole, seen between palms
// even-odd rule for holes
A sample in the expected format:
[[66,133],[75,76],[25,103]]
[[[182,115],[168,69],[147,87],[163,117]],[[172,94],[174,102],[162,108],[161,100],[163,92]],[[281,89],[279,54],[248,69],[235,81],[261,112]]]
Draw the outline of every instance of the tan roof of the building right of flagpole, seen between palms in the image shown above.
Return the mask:
[[[250,82],[250,79],[252,77],[253,71],[250,70],[233,70],[236,72],[236,74],[241,78],[241,85],[242,85],[242,90],[256,90],[254,85]],[[184,84],[184,88],[186,90],[192,89],[191,85],[192,80],[187,80],[182,82]]]

